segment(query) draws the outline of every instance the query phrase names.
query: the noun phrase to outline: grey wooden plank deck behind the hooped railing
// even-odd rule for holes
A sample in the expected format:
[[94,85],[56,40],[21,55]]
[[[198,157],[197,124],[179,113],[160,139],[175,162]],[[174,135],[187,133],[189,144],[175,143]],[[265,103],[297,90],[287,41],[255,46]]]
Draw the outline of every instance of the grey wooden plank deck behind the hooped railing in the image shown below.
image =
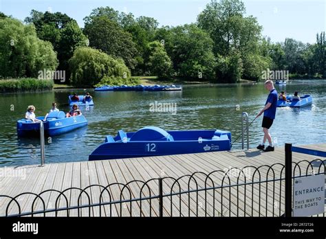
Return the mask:
[[[316,144],[303,146],[315,150],[326,150],[326,144]],[[316,159],[312,155],[303,155],[296,152],[292,153],[294,162]],[[323,158],[325,159],[325,158]],[[281,175],[281,164],[284,164],[285,155],[284,147],[276,148],[274,152],[261,152],[259,150],[230,151],[230,152],[205,152],[193,155],[171,155],[164,157],[146,157],[135,159],[116,159],[103,161],[83,161],[69,163],[48,163],[44,167],[39,166],[21,166],[16,168],[2,168],[4,174],[0,174],[0,195],[17,196],[23,192],[34,192],[40,194],[45,190],[63,191],[69,187],[76,187],[73,190],[67,190],[64,194],[67,196],[68,205],[78,205],[78,196],[80,195],[80,204],[99,203],[100,192],[102,187],[89,187],[85,192],[80,194],[77,188],[85,188],[89,185],[107,186],[112,183],[121,183],[111,185],[107,192],[102,194],[102,201],[118,201],[122,199],[139,198],[140,188],[144,185],[141,181],[159,177],[173,177],[175,179],[186,174],[191,175],[194,172],[204,172],[206,174],[219,170],[210,175],[206,181],[206,187],[212,187],[213,183],[217,185],[237,184],[237,175],[239,171],[230,170],[230,168],[245,168],[246,182],[263,181],[265,179],[279,179]],[[268,166],[275,164],[272,170]],[[259,172],[248,166],[259,167]],[[301,164],[303,173],[308,166],[307,163]],[[223,176],[230,170],[227,178]],[[318,167],[314,167],[318,172]],[[323,167],[320,168],[323,171]],[[310,172],[310,171],[309,171]],[[298,174],[298,168],[296,174]],[[2,175],[2,177],[1,177]],[[254,175],[254,177],[253,177]],[[206,175],[197,173],[190,180],[190,177],[183,177],[173,187],[173,192],[194,190],[197,187],[205,187]],[[128,185],[129,191],[124,188],[121,193],[123,184],[134,181]],[[230,180],[230,181],[228,181]],[[222,182],[223,181],[223,182]],[[173,179],[164,179],[163,194],[171,193]],[[241,177],[238,183],[243,183],[244,177]],[[204,191],[196,194],[195,192],[173,196],[172,198],[164,197],[164,216],[279,216],[283,214],[284,201],[284,181],[274,181],[268,183],[257,183],[245,186],[224,187],[223,190],[210,190],[206,194]],[[153,180],[147,183],[142,190],[142,197],[158,194],[158,181]],[[109,195],[109,193],[111,196]],[[52,209],[55,207],[58,192],[50,191],[41,195],[45,208]],[[21,205],[22,212],[30,212],[32,201],[35,196],[24,194],[17,198]],[[0,216],[6,214],[6,207],[9,198],[0,198]],[[281,202],[281,203],[280,203]],[[60,197],[58,207],[67,206],[67,202]],[[140,209],[141,207],[141,209]],[[34,210],[43,209],[41,200],[36,200]],[[80,209],[80,216],[99,216],[100,208],[91,207],[89,214],[88,208]],[[134,201],[132,203],[119,203],[111,206],[101,207],[102,216],[158,216],[159,203],[158,199],[149,201]],[[9,214],[17,214],[17,206],[12,203],[9,207]],[[69,216],[78,216],[77,209],[69,211]],[[58,212],[59,216],[67,216],[67,211]],[[36,216],[43,216],[36,215]],[[54,216],[54,213],[48,213],[47,216]]]

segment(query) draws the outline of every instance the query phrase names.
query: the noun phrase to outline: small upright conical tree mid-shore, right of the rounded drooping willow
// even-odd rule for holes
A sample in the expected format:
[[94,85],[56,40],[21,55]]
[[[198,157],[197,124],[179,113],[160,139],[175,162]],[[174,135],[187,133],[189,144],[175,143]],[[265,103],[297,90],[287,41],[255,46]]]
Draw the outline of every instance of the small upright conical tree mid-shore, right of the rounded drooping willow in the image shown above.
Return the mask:
[[159,78],[167,78],[172,73],[172,62],[164,47],[158,41],[153,41],[148,45],[149,60],[146,66],[152,74]]

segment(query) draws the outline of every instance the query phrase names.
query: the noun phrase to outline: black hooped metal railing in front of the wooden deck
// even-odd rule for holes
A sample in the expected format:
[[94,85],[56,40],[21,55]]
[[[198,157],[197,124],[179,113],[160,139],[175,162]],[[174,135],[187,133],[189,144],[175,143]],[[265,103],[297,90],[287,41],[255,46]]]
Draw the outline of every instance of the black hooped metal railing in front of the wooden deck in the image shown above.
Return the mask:
[[[288,166],[292,157],[286,158]],[[292,190],[298,177],[325,174],[325,161],[303,160],[290,166],[290,175],[285,174],[285,165],[274,163],[179,178],[0,195],[0,216],[289,216],[287,187]]]

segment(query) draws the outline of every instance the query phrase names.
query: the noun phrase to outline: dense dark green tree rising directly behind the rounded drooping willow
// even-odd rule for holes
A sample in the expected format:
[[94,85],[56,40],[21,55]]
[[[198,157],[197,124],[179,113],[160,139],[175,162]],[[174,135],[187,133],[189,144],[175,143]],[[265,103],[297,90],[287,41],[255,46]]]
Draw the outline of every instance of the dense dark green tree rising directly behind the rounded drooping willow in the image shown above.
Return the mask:
[[98,16],[85,23],[84,33],[89,38],[89,46],[101,49],[103,52],[122,58],[129,69],[136,65],[135,56],[138,52],[131,34],[124,32],[118,23],[107,16]]

